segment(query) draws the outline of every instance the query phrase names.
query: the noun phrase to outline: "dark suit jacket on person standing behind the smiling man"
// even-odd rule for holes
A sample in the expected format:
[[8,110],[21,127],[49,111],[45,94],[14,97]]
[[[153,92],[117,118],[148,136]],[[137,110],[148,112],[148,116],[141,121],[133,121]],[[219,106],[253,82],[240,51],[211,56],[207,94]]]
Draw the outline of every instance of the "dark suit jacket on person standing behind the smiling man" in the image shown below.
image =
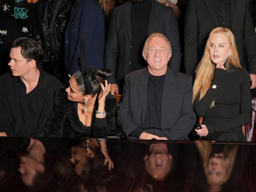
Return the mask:
[[[112,84],[117,83],[119,90],[122,88],[124,76],[131,72],[131,9],[131,1],[115,7],[110,18],[105,46],[104,66],[113,72],[108,81]],[[173,54],[169,61],[169,67],[179,71],[180,39],[173,9],[152,0],[147,37],[154,32],[163,33],[171,42]]]

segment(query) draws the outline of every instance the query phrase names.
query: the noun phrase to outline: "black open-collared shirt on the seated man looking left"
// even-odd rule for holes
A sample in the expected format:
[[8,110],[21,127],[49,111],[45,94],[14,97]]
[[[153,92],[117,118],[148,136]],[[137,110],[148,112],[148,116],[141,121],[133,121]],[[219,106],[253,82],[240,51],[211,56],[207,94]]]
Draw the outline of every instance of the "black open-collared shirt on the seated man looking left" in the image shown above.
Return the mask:
[[0,132],[7,136],[44,137],[53,111],[54,94],[61,82],[40,70],[37,86],[28,94],[20,77],[0,77]]

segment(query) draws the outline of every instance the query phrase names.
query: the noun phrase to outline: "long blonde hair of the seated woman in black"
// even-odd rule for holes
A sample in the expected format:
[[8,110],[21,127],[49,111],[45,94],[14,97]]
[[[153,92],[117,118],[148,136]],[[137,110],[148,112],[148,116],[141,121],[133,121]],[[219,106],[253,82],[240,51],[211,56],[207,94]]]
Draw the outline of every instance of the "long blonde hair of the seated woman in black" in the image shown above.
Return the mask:
[[[213,29],[207,39],[202,60],[200,61],[200,63],[197,66],[197,69],[196,69],[196,78],[195,78],[195,83],[194,83],[194,87],[193,87],[193,102],[198,93],[200,93],[199,100],[201,100],[204,97],[204,95],[206,94],[207,90],[209,89],[209,87],[211,85],[211,81],[213,79],[215,65],[211,61],[209,47],[210,47],[211,36],[214,33],[221,33],[221,34],[225,35],[225,37],[227,38],[227,40],[230,44],[231,57],[227,58],[227,60],[226,60],[226,70],[230,71],[230,69],[229,69],[230,65],[233,65],[236,68],[242,68],[240,61],[239,61],[239,55],[237,52],[236,42],[235,42],[233,33],[229,29],[223,28],[223,27],[218,27],[218,28]],[[211,103],[211,107],[214,107],[214,100]]]

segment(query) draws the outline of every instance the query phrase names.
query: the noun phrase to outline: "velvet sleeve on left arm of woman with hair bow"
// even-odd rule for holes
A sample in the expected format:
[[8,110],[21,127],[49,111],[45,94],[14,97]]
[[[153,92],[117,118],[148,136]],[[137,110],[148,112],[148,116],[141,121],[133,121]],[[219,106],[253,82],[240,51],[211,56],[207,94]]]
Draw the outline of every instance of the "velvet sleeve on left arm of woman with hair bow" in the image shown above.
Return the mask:
[[46,137],[61,137],[63,121],[67,117],[67,104],[65,88],[59,87],[55,94],[54,111],[45,127]]

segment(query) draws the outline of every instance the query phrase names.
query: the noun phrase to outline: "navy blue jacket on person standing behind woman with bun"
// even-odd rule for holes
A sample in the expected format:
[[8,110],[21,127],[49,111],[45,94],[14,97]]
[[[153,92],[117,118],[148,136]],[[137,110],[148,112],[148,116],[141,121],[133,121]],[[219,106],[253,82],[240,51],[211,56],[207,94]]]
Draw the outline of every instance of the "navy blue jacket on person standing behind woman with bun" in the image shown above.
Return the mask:
[[103,67],[104,15],[96,0],[80,0],[73,8],[65,33],[65,67],[72,75],[79,70],[79,32],[85,35],[85,61],[87,67]]

